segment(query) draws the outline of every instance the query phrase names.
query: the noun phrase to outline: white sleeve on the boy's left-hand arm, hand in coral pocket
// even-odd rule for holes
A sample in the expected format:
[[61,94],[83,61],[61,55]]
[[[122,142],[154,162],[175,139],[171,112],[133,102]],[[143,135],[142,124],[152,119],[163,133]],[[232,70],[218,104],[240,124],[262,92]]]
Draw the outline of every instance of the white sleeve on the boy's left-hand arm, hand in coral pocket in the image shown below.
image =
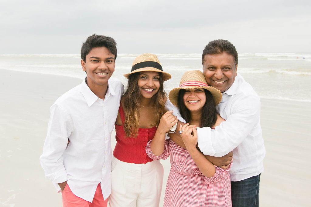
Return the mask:
[[63,152],[67,147],[67,137],[72,132],[73,123],[61,106],[54,104],[50,112],[48,133],[40,163],[46,178],[55,183],[61,183],[67,180],[66,169],[63,165]]

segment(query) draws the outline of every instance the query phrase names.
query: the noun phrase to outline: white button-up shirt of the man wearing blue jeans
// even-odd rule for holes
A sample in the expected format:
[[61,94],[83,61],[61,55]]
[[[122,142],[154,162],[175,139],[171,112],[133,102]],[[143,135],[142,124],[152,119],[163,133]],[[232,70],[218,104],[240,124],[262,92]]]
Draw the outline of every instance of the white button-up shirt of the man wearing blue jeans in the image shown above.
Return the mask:
[[[172,104],[166,103],[168,110]],[[226,119],[215,130],[198,128],[198,146],[205,155],[220,157],[233,150],[231,181],[240,181],[263,172],[263,145],[260,127],[260,99],[250,84],[238,74],[232,86],[222,93],[217,106]],[[178,113],[176,116],[179,116]],[[184,120],[183,120],[184,121]]]

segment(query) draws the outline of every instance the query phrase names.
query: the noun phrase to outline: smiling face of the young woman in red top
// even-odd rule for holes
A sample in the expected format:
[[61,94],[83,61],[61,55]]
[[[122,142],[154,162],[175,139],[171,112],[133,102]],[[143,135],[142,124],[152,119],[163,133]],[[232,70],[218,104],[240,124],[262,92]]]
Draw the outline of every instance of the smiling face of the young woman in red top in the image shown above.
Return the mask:
[[160,75],[154,71],[142,71],[139,73],[138,87],[142,98],[153,97],[160,88]]

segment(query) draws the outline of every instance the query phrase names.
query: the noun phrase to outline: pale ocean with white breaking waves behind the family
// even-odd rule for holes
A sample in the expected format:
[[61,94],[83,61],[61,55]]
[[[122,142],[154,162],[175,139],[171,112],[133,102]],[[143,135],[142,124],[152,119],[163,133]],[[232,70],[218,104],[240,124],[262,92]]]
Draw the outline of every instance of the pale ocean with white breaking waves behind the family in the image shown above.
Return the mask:
[[[140,54],[118,54],[112,77],[124,85],[132,62]],[[156,54],[163,70],[172,75],[165,91],[179,86],[187,70],[202,70],[201,54]],[[0,55],[0,68],[83,79],[79,54]],[[240,53],[238,72],[261,98],[311,102],[311,53]]]

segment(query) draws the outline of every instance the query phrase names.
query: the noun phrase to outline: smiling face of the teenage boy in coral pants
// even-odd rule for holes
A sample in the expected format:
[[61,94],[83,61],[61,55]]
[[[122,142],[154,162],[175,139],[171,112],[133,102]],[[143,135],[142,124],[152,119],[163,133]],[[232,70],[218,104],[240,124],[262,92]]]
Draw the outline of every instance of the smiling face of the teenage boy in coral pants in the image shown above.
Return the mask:
[[114,72],[114,55],[106,47],[94,47],[81,60],[82,70],[86,71],[89,88],[107,87],[108,79]]

